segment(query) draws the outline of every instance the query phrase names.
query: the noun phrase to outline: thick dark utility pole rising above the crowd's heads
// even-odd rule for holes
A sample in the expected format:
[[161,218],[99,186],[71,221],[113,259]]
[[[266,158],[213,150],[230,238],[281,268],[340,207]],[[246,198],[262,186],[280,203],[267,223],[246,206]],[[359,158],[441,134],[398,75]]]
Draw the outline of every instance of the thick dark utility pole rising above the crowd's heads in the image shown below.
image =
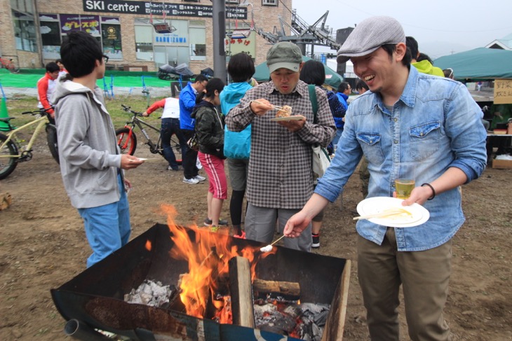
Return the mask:
[[213,0],[213,75],[227,83],[226,51],[226,4],[224,0]]

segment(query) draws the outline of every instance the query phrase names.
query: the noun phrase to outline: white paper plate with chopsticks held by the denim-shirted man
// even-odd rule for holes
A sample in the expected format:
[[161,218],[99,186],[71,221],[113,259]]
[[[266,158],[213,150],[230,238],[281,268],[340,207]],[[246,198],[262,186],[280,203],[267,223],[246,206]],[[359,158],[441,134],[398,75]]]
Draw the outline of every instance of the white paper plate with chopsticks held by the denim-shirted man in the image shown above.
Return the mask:
[[380,213],[386,209],[400,208],[410,212],[410,216],[390,216],[384,218],[370,218],[372,223],[391,226],[393,228],[412,228],[425,223],[430,218],[429,211],[420,204],[402,206],[403,199],[396,197],[369,197],[359,202],[357,205],[358,214],[365,216],[367,214]]

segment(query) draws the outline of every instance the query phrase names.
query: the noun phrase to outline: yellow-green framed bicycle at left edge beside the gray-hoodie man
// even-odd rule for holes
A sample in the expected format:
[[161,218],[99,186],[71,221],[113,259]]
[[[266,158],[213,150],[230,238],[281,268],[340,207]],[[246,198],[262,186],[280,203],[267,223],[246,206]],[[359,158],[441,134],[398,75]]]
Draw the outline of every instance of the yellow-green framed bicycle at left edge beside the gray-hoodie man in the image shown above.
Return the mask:
[[[13,117],[0,118],[2,122],[7,123],[9,129],[8,133],[0,134],[0,180],[5,179],[9,174],[11,174],[16,166],[18,166],[18,162],[32,160],[32,146],[34,146],[34,141],[39,135],[39,132],[41,132],[45,126],[48,148],[50,148],[52,157],[57,161],[57,163],[59,163],[57,130],[55,125],[50,123],[50,113],[48,113],[48,110],[49,109],[38,109],[23,112],[22,115],[30,114],[32,116],[39,115],[40,117],[36,118],[32,122],[22,125],[21,127],[14,127],[11,125],[11,120],[14,119]],[[27,127],[31,125],[36,125],[36,128],[32,133],[32,137],[30,137],[27,142],[20,138],[18,134],[20,131],[26,130]]]

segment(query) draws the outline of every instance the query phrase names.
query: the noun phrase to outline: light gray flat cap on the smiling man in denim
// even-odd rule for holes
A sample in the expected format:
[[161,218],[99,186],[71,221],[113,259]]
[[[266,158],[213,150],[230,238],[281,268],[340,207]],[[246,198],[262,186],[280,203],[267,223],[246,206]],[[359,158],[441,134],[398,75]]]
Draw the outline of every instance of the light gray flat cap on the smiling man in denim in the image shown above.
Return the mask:
[[398,20],[384,15],[363,20],[339,48],[337,62],[369,55],[386,44],[405,43],[405,32]]

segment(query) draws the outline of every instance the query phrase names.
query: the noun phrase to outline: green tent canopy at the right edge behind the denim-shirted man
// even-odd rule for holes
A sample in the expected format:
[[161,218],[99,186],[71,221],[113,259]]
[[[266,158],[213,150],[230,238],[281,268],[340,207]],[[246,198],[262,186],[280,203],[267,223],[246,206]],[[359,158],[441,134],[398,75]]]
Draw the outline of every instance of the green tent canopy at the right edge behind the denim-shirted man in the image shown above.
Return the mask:
[[439,57],[434,66],[452,68],[457,81],[485,81],[512,78],[512,51],[495,48],[475,48]]

